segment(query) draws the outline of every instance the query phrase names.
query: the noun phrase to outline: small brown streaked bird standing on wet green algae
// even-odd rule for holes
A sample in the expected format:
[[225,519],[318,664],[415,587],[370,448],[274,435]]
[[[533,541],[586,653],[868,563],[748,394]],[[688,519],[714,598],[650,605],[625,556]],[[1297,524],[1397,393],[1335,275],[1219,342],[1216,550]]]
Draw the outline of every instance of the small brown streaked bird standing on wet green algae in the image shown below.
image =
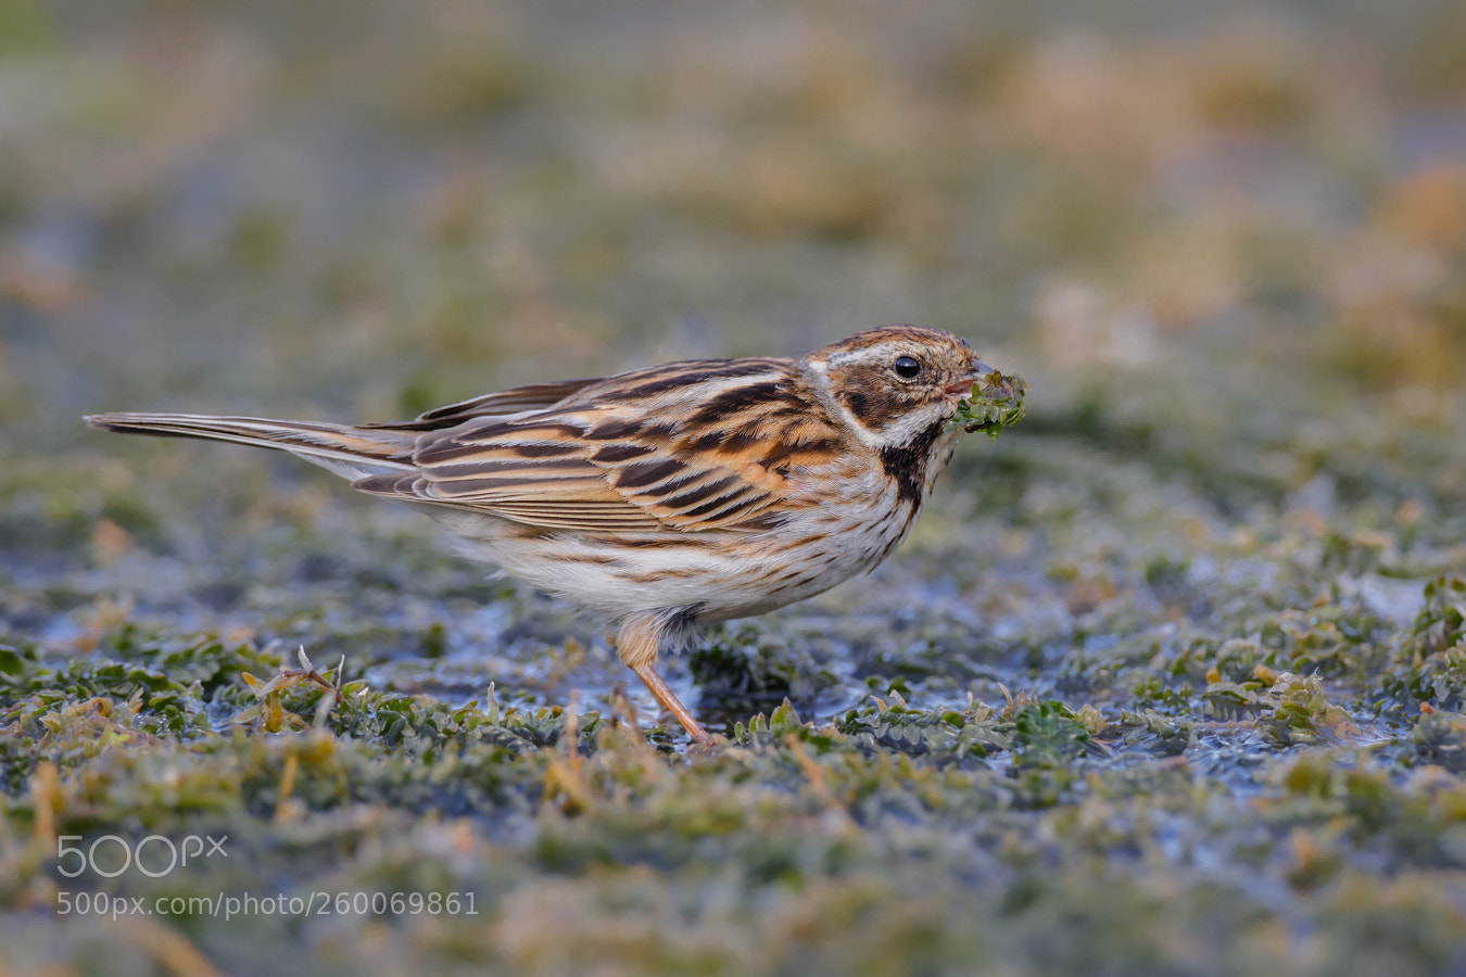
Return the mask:
[[711,743],[657,674],[660,652],[885,560],[951,457],[957,403],[991,372],[962,337],[888,325],[798,360],[532,384],[405,423],[86,422],[281,448],[421,504],[471,557],[605,618],[622,661]]

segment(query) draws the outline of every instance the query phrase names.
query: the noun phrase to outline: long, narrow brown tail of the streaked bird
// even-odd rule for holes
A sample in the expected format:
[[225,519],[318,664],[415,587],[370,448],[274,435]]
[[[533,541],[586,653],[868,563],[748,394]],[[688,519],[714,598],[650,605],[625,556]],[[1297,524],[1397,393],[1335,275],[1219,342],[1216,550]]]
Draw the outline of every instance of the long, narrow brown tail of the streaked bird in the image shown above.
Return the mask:
[[416,441],[415,434],[390,428],[352,428],[264,417],[116,413],[88,415],[86,423],[98,431],[119,434],[207,438],[280,448],[350,479],[412,469],[412,448]]

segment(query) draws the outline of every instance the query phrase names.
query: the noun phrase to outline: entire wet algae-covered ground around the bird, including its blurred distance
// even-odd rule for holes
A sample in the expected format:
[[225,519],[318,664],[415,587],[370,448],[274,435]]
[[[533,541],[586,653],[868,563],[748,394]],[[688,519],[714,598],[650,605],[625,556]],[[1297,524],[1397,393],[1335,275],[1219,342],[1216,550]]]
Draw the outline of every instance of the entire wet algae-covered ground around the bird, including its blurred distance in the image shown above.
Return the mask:
[[[0,968],[1466,971],[1462,38],[0,0]],[[421,516],[81,422],[883,322],[1026,416],[667,664],[715,750]]]

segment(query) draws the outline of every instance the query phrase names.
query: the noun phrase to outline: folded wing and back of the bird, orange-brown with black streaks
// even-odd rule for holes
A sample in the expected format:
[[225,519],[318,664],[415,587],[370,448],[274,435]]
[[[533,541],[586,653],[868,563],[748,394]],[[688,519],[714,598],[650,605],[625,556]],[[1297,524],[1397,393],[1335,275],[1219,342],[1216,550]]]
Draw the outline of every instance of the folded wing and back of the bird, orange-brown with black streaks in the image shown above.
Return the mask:
[[787,360],[701,360],[419,435],[415,472],[356,486],[554,529],[748,529],[840,445]]

